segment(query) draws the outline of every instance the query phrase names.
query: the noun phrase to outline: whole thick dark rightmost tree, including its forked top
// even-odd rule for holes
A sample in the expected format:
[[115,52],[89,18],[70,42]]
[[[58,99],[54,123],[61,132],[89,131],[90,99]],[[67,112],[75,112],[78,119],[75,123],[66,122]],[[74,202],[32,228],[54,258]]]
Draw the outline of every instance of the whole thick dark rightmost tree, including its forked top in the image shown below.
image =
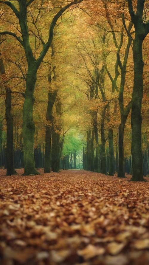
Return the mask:
[[[142,160],[142,97],[143,97],[143,56],[142,44],[149,32],[149,22],[143,21],[143,9],[145,0],[138,0],[136,13],[134,13],[132,0],[128,1],[129,14],[135,28],[135,38],[133,39],[134,58],[134,86],[132,94],[131,129],[132,143],[131,154],[133,160],[133,172],[131,181],[144,181],[143,160]],[[129,32],[128,32],[129,34]]]

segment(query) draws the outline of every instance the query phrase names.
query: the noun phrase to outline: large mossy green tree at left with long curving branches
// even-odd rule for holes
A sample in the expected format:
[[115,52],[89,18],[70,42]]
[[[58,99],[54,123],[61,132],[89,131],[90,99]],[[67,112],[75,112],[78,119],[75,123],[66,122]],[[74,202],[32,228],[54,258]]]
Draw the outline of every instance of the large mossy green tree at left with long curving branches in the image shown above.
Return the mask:
[[[25,90],[25,99],[23,106],[23,145],[24,145],[24,175],[30,174],[39,174],[35,169],[34,161],[34,134],[35,134],[35,124],[33,121],[33,106],[35,102],[34,90],[35,83],[37,80],[37,70],[41,65],[46,53],[48,52],[49,47],[52,44],[53,39],[53,30],[56,25],[56,22],[70,6],[78,4],[83,0],[74,0],[67,4],[65,7],[62,7],[58,13],[52,19],[52,22],[49,27],[49,37],[48,41],[45,43],[42,39],[43,49],[38,57],[35,59],[33,54],[32,47],[30,45],[29,30],[27,23],[27,8],[34,2],[34,0],[19,0],[18,7],[19,10],[13,5],[10,1],[0,1],[0,3],[7,5],[11,8],[16,18],[18,18],[21,36],[18,36],[14,32],[3,31],[0,32],[0,35],[11,35],[16,38],[19,44],[22,45],[25,51],[25,56],[27,59],[28,70],[26,76],[26,90]],[[39,11],[40,12],[40,11]],[[40,38],[40,37],[39,37]]]

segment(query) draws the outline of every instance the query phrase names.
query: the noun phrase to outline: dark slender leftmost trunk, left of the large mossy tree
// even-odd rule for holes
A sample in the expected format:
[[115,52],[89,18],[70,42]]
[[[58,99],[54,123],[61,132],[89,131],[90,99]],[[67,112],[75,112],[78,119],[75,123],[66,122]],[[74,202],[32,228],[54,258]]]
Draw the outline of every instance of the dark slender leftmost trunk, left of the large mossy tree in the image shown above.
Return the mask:
[[5,98],[5,117],[7,122],[7,144],[6,144],[6,166],[7,166],[7,175],[13,175],[16,173],[14,168],[14,157],[13,157],[13,115],[11,113],[11,89],[7,85],[7,77],[5,73],[4,62],[0,53],[0,73],[2,79],[4,80],[4,87],[6,91]]

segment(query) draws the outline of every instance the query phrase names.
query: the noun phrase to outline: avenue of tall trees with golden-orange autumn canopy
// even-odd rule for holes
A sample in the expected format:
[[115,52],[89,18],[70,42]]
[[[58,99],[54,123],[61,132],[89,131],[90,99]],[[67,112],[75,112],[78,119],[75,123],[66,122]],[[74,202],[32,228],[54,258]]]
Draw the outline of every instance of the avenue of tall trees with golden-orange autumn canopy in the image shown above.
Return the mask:
[[0,167],[144,181],[145,0],[0,1]]

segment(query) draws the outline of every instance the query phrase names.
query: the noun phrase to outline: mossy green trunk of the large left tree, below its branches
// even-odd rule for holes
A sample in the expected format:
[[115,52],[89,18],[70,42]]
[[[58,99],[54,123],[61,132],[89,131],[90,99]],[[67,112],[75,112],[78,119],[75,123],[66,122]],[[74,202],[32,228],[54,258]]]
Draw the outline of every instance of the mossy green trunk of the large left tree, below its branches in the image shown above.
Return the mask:
[[34,89],[36,82],[36,72],[33,71],[32,68],[29,69],[27,73],[25,100],[23,106],[24,175],[40,174],[35,169],[34,160],[35,124],[33,121],[33,106],[35,102]]

